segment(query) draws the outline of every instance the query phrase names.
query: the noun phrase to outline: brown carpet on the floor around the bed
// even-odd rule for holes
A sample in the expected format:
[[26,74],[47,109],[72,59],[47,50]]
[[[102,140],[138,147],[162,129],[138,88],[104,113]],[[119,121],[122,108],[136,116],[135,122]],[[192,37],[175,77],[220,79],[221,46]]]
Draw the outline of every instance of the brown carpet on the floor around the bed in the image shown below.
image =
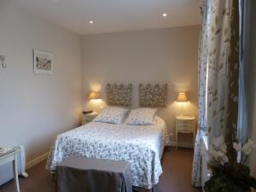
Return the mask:
[[[199,192],[191,186],[191,165],[193,150],[172,148],[163,157],[164,173],[160,177],[154,192]],[[20,177],[21,192],[55,192],[55,183],[49,172],[44,169],[45,161],[27,172],[28,178]],[[0,186],[0,192],[15,192],[13,181]],[[107,191],[106,191],[107,192]]]

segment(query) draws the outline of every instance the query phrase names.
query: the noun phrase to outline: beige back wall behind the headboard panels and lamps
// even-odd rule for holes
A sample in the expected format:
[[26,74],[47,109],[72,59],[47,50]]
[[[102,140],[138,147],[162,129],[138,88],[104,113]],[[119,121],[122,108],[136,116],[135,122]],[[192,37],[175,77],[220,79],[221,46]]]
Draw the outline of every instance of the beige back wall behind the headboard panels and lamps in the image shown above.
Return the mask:
[[168,105],[159,115],[172,132],[174,117],[180,114],[177,91],[187,91],[184,114],[197,115],[197,48],[199,26],[85,35],[82,38],[84,109],[92,105],[90,90],[107,83],[132,83],[132,107],[137,107],[138,83],[168,83]]

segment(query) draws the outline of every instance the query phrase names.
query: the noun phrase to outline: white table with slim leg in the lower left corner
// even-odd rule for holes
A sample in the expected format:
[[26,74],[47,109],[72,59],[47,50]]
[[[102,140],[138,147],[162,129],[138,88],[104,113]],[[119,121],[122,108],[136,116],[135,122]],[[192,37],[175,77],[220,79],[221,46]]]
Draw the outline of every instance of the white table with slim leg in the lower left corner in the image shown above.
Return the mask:
[[15,177],[15,188],[17,192],[20,192],[20,184],[19,184],[19,178],[18,178],[18,167],[17,167],[17,155],[18,150],[11,150],[10,152],[7,152],[5,154],[0,155],[0,166],[13,162],[13,168],[14,168],[14,177]]

